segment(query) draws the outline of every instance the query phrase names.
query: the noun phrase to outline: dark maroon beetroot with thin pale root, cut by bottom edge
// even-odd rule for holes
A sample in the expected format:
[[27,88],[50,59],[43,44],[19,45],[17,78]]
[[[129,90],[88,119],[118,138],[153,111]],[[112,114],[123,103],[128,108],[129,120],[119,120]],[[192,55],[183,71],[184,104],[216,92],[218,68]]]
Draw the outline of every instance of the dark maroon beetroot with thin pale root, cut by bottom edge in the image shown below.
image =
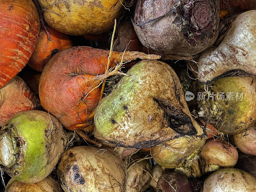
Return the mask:
[[156,188],[158,192],[192,192],[188,178],[177,172],[165,173],[159,177]]

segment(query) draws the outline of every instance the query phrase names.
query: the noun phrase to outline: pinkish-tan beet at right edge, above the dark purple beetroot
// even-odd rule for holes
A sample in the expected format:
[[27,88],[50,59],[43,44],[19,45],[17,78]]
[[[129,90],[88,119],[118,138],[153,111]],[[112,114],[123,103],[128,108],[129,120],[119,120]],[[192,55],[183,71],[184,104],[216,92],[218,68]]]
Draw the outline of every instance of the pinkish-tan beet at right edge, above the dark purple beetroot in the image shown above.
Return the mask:
[[252,129],[233,135],[236,147],[245,154],[256,156],[256,127]]

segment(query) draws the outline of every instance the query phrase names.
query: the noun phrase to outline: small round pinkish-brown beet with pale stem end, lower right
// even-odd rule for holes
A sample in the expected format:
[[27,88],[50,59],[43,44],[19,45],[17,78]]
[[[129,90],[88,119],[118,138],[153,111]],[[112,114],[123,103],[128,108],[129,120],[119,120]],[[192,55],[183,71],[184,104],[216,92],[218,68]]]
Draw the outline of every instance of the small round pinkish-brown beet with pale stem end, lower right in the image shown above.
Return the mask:
[[235,167],[238,153],[232,144],[212,138],[204,144],[199,157],[204,172],[212,172],[220,168]]

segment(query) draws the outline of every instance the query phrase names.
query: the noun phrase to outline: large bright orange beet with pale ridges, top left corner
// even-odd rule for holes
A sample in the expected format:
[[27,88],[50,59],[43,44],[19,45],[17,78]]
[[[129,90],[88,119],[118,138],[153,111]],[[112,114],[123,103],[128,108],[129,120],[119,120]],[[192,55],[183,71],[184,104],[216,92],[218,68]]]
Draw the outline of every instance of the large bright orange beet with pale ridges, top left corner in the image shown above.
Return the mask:
[[39,31],[39,15],[32,0],[0,0],[0,88],[28,63]]

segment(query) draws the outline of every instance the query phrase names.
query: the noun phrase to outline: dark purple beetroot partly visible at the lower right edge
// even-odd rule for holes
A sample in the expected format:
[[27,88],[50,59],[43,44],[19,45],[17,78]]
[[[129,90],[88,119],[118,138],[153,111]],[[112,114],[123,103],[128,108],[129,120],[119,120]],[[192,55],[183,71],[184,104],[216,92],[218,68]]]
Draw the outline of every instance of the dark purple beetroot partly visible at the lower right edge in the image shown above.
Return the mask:
[[235,168],[246,171],[256,177],[256,156],[239,155]]

